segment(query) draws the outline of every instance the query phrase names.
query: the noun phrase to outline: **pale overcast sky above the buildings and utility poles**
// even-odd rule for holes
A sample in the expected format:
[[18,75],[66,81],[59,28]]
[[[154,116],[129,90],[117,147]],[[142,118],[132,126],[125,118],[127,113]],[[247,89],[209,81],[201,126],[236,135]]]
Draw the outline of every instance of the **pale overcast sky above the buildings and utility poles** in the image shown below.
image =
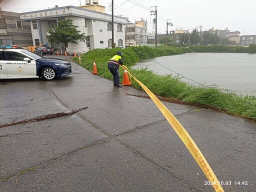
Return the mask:
[[[111,0],[98,2],[111,14]],[[85,0],[0,0],[2,10],[13,12],[80,4],[84,5]],[[150,15],[150,10],[155,10],[155,6],[157,33],[166,33],[166,20],[171,19],[173,26],[168,26],[168,31],[175,28],[191,31],[201,25],[202,30],[227,27],[230,31],[240,31],[240,35],[256,35],[256,0],[114,0],[114,15],[128,17],[131,22],[143,17],[148,22],[148,32],[152,32],[154,15]]]

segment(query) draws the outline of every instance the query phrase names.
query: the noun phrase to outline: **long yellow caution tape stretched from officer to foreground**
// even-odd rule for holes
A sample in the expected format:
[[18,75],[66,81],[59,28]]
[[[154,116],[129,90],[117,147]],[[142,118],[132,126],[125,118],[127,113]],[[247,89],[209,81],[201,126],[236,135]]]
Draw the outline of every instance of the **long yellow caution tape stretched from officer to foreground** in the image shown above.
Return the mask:
[[[127,67],[124,65],[121,65],[122,68],[127,70]],[[127,70],[128,71],[128,70]],[[128,71],[130,74],[130,72]],[[130,76],[132,76],[130,74]],[[217,177],[215,176],[213,170],[210,168],[210,165],[202,155],[201,151],[191,138],[191,136],[186,132],[185,128],[180,124],[180,122],[176,119],[176,117],[162,104],[162,102],[138,79],[136,79],[134,76],[132,76],[134,80],[146,91],[148,96],[153,100],[155,105],[159,108],[163,116],[167,119],[169,124],[172,126],[172,128],[175,130],[179,138],[182,140],[182,142],[185,144],[186,148],[189,150],[197,164],[202,169],[203,173],[207,177],[210,184],[213,186],[215,191],[217,192],[223,192],[223,188],[218,181]]]

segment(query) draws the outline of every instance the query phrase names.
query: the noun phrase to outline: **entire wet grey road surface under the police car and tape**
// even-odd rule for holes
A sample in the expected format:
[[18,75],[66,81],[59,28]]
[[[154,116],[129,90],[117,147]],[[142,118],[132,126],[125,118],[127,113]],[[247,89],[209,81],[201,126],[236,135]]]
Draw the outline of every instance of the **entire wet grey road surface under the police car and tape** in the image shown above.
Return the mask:
[[[88,107],[0,128],[0,191],[214,191],[154,103],[127,95],[145,92],[72,66],[54,81],[0,80],[1,124]],[[255,191],[255,122],[163,103],[225,191]]]

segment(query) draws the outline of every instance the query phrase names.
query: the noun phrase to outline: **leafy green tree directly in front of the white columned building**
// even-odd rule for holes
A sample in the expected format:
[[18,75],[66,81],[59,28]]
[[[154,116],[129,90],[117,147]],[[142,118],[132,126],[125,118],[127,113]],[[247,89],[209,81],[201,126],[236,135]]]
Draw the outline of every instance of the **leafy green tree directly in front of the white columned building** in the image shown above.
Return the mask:
[[66,50],[68,43],[77,44],[77,40],[83,42],[87,40],[87,36],[84,33],[80,33],[76,29],[77,27],[78,25],[73,25],[72,19],[60,19],[57,26],[47,29],[48,35],[46,37],[51,43],[64,44]]

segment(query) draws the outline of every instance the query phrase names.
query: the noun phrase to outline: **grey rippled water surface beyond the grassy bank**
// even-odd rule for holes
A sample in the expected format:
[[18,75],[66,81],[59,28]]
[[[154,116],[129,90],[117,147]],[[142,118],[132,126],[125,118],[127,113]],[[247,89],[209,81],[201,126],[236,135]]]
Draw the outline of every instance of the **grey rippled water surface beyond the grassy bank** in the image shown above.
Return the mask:
[[178,73],[186,77],[181,77],[182,81],[194,85],[216,85],[236,94],[256,95],[256,54],[193,52],[156,57],[132,66],[145,67],[157,74]]

